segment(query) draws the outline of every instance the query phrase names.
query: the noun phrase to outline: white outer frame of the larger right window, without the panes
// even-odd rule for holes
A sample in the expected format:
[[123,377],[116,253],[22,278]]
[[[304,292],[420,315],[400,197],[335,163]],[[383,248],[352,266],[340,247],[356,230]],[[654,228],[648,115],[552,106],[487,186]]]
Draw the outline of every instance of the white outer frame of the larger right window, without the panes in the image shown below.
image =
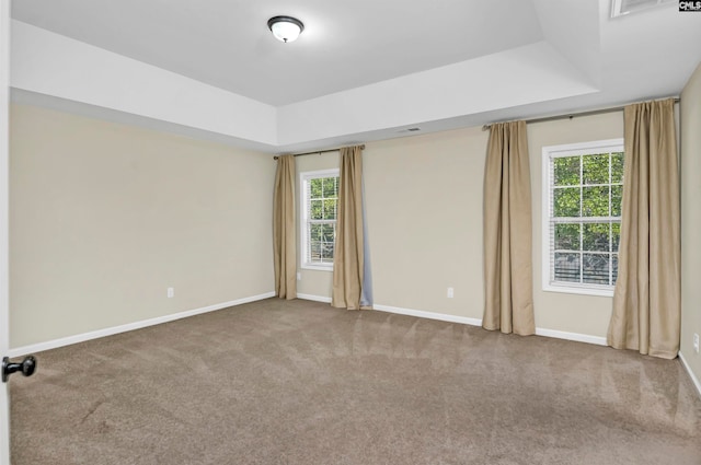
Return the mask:
[[[542,231],[541,231],[541,240],[542,240],[542,290],[547,292],[563,292],[571,294],[584,294],[584,295],[600,295],[600,297],[613,297],[613,290],[616,284],[595,284],[595,283],[577,283],[577,282],[567,282],[564,283],[553,282],[551,281],[551,276],[553,274],[553,261],[551,257],[553,256],[553,251],[551,251],[551,244],[554,246],[554,243],[551,242],[551,231],[550,223],[552,219],[552,202],[551,202],[551,191],[553,189],[553,179],[552,179],[552,171],[550,168],[551,160],[553,158],[561,156],[573,156],[573,155],[589,155],[589,154],[599,154],[599,153],[612,153],[612,152],[623,152],[623,138],[617,139],[606,139],[606,140],[595,140],[589,142],[577,142],[577,143],[566,143],[560,146],[547,146],[542,148]],[[625,158],[625,154],[623,154]],[[582,179],[581,179],[582,182]],[[624,182],[624,179],[623,179]],[[588,218],[591,220],[594,218]],[[619,217],[600,217],[601,219],[606,219],[610,221],[611,218]],[[585,223],[585,222],[583,222]],[[583,224],[579,223],[579,224]],[[619,243],[620,245],[620,243]]]

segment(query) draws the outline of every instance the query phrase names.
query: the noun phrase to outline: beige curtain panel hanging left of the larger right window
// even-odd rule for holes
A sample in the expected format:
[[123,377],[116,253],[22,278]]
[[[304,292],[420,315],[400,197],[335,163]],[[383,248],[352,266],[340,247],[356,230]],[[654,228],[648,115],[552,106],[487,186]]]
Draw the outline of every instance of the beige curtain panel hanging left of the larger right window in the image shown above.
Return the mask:
[[536,333],[526,121],[494,124],[484,175],[485,329]]

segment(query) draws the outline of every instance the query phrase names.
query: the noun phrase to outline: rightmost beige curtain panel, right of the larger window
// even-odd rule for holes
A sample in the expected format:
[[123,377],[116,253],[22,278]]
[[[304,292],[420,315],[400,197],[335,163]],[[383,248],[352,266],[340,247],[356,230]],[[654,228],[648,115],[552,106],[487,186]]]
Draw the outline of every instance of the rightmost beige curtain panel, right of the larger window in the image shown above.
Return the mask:
[[679,351],[679,171],[674,100],[629,105],[619,272],[608,344],[674,359]]

